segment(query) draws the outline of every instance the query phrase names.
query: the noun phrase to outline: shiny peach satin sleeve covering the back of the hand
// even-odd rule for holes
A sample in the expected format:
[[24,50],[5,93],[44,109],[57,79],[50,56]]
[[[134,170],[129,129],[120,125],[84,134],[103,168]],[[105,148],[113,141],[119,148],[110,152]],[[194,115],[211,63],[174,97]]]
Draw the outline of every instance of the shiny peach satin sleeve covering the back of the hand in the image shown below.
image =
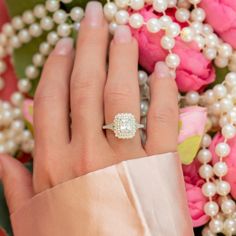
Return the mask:
[[11,215],[15,236],[192,236],[175,153],[100,169],[37,194]]

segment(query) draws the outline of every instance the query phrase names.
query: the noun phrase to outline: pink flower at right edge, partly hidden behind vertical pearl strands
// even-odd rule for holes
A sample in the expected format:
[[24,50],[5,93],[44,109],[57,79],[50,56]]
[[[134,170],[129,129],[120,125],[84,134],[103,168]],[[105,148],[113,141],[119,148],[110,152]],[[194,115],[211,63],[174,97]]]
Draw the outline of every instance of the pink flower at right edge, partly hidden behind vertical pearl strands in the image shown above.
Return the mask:
[[[224,138],[220,133],[216,134],[214,139],[212,140],[210,150],[212,152],[213,164],[215,164],[219,160],[218,156],[215,153],[215,146],[223,141]],[[234,199],[236,199],[236,137],[228,140],[227,143],[229,144],[231,151],[229,156],[224,159],[228,166],[228,174],[224,177],[224,179],[230,183],[231,195]]]

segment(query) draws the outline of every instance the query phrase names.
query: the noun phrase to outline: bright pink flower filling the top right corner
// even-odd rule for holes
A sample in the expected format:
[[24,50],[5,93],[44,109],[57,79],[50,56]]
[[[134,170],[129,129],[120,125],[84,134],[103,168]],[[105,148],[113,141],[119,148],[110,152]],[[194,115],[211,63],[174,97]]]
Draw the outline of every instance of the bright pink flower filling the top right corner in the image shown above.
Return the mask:
[[223,40],[236,48],[236,1],[202,0],[200,6],[206,12],[206,21]]

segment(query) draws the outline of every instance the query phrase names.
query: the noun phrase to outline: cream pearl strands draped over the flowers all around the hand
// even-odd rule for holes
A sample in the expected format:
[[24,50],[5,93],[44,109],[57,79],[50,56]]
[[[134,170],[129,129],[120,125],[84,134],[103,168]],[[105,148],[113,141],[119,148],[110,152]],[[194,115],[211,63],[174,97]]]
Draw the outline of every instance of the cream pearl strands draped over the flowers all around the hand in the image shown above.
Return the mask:
[[[48,31],[47,40],[39,46],[39,52],[32,58],[32,64],[25,68],[25,78],[18,81],[19,91],[11,96],[11,104],[1,101],[0,103],[0,153],[14,155],[22,150],[32,153],[34,140],[31,132],[25,128],[22,115],[22,104],[25,95],[31,89],[31,81],[39,77],[40,68],[43,66],[46,57],[53,49],[57,41],[62,37],[70,36],[73,29],[78,30],[84,12],[80,7],[74,7],[70,13],[60,9],[60,2],[70,3],[73,0],[47,0],[45,4],[39,4],[33,10],[25,11],[22,16],[16,16],[11,23],[6,23],[0,33],[0,75],[6,71],[6,64],[3,58],[8,54],[29,43],[32,38],[42,35]],[[227,74],[222,84],[216,85],[213,89],[205,91],[203,94],[189,92],[186,96],[180,96],[185,106],[202,105],[208,109],[208,130],[212,128],[222,128],[225,138],[223,143],[216,146],[216,154],[219,162],[214,167],[209,163],[211,153],[208,147],[211,137],[205,134],[202,140],[202,149],[198,153],[198,160],[202,163],[199,169],[200,176],[206,180],[203,185],[203,194],[209,198],[204,210],[211,217],[209,226],[203,230],[203,235],[215,235],[217,232],[224,232],[232,235],[236,232],[236,212],[235,203],[230,198],[230,185],[222,179],[227,173],[227,165],[224,162],[225,156],[230,152],[227,140],[236,134],[236,52],[232,47],[224,43],[214,34],[210,25],[204,24],[205,12],[197,5],[201,0],[115,0],[108,1],[104,6],[104,14],[109,23],[111,33],[114,33],[117,25],[129,24],[130,27],[138,29],[147,27],[150,33],[157,33],[164,30],[165,35],[161,39],[161,46],[169,54],[165,62],[171,69],[173,77],[175,70],[180,64],[180,58],[172,52],[175,46],[175,38],[180,37],[184,42],[195,40],[203,54],[209,60],[214,60],[215,64],[223,68],[228,66],[230,73]],[[139,13],[130,13],[127,9],[138,11],[145,4],[151,4],[153,9],[162,13],[160,18],[151,18],[147,22]],[[166,15],[168,8],[175,8],[175,18],[180,23],[188,23],[189,26],[181,29],[178,23]],[[190,11],[189,9],[193,9]],[[68,18],[72,23],[67,23]],[[56,29],[56,30],[55,30]],[[139,71],[138,79],[141,90],[141,122],[146,124],[146,115],[149,106],[149,86],[148,75],[144,71]],[[4,79],[0,76],[0,89],[4,88]],[[142,140],[145,142],[145,132],[142,133]],[[219,200],[213,200],[216,195]],[[215,198],[214,198],[215,199]],[[220,205],[220,207],[219,207]],[[220,212],[221,210],[221,212]]]

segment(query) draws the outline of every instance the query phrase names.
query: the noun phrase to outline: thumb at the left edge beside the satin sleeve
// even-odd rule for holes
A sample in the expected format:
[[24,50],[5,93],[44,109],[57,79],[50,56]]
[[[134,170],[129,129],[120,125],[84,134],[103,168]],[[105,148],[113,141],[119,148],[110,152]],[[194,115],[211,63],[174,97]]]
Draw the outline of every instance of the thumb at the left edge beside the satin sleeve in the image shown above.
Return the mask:
[[0,155],[0,179],[10,214],[33,197],[31,173],[15,158]]

